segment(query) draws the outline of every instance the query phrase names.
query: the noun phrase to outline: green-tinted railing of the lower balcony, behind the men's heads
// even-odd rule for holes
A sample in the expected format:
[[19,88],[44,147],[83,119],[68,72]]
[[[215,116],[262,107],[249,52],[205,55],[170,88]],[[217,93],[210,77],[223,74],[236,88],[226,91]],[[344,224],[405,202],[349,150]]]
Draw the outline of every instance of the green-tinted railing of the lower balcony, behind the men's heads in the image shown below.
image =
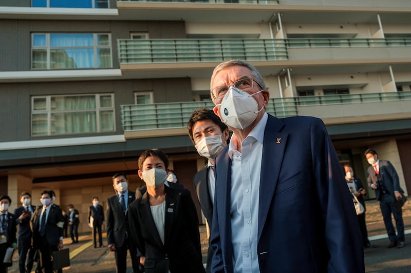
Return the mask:
[[[285,97],[270,99],[267,112],[277,118],[298,115],[300,106],[354,104],[411,100],[411,92],[342,94],[325,96]],[[191,113],[200,107],[212,109],[213,102],[158,103],[147,105],[122,105],[121,120],[124,131],[184,128]]]

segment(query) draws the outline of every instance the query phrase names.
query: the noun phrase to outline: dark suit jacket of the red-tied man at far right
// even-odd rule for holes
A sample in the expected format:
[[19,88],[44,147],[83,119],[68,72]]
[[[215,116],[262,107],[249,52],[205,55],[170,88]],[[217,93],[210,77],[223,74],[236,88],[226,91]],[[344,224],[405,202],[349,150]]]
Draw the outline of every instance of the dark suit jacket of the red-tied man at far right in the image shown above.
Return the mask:
[[[400,180],[398,179],[397,171],[395,170],[393,164],[386,160],[380,160],[379,163],[379,174],[384,184],[384,187],[388,190],[388,192],[395,196],[394,191],[399,191],[403,193],[404,191],[400,188]],[[376,183],[377,184],[377,174],[372,165],[368,167],[368,183]],[[377,184],[378,185],[378,184]],[[371,187],[372,188],[372,187]],[[380,188],[378,187],[376,190],[376,198],[380,200],[381,192]]]

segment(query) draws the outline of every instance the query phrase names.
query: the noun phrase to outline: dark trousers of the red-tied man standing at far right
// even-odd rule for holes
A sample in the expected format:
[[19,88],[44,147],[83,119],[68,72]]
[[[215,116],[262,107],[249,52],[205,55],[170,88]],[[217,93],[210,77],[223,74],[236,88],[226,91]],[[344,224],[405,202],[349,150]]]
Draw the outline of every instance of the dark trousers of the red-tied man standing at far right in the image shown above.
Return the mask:
[[[397,211],[394,208],[395,197],[390,193],[383,193],[380,197],[380,208],[382,217],[384,219],[385,229],[387,230],[388,238],[390,242],[404,242],[404,222],[402,220],[402,209]],[[391,213],[394,216],[394,220],[397,227],[397,236],[395,235],[395,229],[393,226],[393,220],[391,219]]]

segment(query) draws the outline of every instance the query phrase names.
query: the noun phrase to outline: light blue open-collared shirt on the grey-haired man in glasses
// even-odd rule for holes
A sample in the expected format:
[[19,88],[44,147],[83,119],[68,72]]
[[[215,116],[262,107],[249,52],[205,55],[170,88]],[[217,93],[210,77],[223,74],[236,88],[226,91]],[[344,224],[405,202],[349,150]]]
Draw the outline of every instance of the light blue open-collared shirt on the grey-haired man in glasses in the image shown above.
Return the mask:
[[258,200],[263,153],[264,130],[268,114],[241,143],[241,152],[235,148],[238,140],[230,140],[231,158],[231,241],[234,272],[259,272],[257,256]]

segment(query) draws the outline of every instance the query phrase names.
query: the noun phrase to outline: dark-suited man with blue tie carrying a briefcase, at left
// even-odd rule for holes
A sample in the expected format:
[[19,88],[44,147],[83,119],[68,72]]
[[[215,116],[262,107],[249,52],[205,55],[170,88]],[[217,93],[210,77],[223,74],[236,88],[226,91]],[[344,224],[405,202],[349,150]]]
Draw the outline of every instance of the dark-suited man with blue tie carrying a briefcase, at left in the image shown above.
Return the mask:
[[[33,247],[40,249],[42,269],[46,273],[53,272],[52,251],[63,248],[63,214],[60,206],[52,203],[52,198],[52,192],[43,191],[40,198],[42,206],[34,211],[30,220]],[[62,272],[61,269],[58,271]]]

